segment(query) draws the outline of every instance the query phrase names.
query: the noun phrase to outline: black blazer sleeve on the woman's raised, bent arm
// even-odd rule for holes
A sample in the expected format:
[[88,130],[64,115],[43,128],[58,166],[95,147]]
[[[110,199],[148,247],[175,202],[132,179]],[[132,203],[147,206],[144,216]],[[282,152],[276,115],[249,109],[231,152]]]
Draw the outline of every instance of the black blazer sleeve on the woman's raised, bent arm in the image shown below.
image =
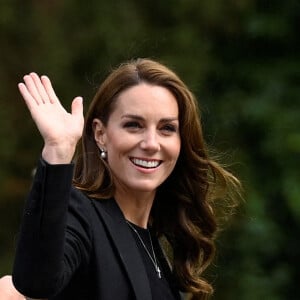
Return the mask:
[[15,287],[28,297],[49,298],[57,294],[80,264],[88,260],[88,217],[76,200],[84,196],[72,188],[72,177],[72,164],[38,163],[25,204],[13,268]]

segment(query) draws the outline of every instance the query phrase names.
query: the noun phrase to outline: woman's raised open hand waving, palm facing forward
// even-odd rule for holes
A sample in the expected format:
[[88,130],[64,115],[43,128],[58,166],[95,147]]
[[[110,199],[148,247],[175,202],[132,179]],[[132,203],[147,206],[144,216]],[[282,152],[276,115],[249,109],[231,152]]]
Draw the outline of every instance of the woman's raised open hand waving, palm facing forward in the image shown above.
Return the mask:
[[74,98],[71,113],[68,113],[47,76],[30,73],[18,87],[44,139],[43,158],[50,164],[69,163],[82,135],[82,98]]

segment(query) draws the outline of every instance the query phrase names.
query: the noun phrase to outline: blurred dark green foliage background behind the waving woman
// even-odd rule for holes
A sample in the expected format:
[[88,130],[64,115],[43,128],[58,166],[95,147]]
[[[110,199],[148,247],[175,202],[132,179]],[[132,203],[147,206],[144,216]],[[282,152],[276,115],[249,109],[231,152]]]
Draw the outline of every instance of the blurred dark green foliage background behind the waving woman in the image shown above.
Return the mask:
[[197,95],[207,141],[245,188],[208,273],[214,299],[300,299],[299,28],[297,0],[1,1],[0,275],[42,147],[17,83],[45,73],[68,107],[151,57]]

